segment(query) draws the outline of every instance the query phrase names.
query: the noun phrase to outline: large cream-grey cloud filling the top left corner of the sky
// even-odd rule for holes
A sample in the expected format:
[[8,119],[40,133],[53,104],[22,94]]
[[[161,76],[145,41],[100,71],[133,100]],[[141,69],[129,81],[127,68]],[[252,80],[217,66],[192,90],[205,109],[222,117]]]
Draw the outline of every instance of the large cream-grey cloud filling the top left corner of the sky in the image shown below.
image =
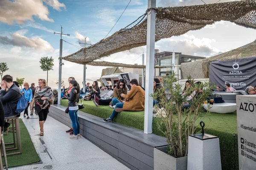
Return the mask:
[[[44,0],[44,2],[58,11],[61,11],[61,7],[65,8],[65,5],[58,0]],[[42,0],[0,0],[0,21],[3,23],[23,24],[26,20],[34,21],[33,16],[53,22]]]

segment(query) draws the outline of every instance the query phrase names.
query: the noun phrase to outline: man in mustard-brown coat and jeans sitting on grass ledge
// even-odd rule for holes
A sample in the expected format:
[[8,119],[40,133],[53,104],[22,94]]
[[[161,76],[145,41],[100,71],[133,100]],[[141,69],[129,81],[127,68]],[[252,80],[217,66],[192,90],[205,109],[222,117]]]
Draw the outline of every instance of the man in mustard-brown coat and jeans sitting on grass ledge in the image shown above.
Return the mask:
[[113,122],[117,113],[125,111],[144,111],[145,109],[145,91],[140,87],[137,79],[130,81],[131,90],[128,94],[121,94],[125,98],[125,102],[116,103],[113,113],[108,119],[103,119],[103,122]]

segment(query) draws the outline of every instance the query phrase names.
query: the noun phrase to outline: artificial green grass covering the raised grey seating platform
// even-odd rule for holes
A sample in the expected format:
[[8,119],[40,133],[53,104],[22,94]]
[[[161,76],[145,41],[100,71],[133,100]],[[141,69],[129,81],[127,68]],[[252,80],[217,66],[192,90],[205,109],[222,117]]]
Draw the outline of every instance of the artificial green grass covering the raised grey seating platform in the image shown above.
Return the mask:
[[[61,105],[67,106],[67,99],[61,100]],[[92,101],[83,101],[84,108],[80,111],[89,113],[101,118],[108,118],[113,108],[109,106],[98,106],[96,107]],[[238,140],[237,140],[237,120],[236,112],[219,114],[210,113],[204,118],[205,125],[207,126],[211,120],[209,126],[204,130],[204,133],[208,133],[214,136],[218,136],[220,142],[221,151],[221,166],[223,170],[233,169],[234,163],[238,170]],[[153,133],[159,136],[164,136],[159,130],[160,118],[153,118]],[[196,125],[199,124],[201,119],[196,121]],[[140,130],[144,130],[144,111],[123,111],[118,113],[114,122],[122,125],[127,125]],[[199,126],[200,127],[200,126]],[[160,127],[162,130],[165,128],[164,125]],[[236,135],[235,140],[233,134]],[[234,142],[236,148],[234,149]],[[235,159],[234,159],[235,154]]]

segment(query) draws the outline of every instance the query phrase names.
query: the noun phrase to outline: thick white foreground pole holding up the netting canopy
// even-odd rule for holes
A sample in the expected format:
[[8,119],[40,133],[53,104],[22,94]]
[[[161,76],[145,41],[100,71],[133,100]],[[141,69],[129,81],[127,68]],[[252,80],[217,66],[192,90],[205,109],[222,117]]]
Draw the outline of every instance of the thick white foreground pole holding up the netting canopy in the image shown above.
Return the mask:
[[[156,7],[156,0],[148,0],[148,8]],[[146,54],[146,80],[145,80],[145,114],[144,133],[152,133],[153,122],[153,93],[154,82],[154,47],[155,47],[156,11],[151,9],[147,16],[147,54]]]

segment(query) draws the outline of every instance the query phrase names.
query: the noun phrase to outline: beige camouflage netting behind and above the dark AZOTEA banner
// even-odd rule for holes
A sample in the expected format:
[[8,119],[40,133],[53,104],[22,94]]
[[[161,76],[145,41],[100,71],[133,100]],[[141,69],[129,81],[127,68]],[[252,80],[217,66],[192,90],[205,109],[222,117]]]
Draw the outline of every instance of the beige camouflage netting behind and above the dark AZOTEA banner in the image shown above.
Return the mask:
[[194,62],[182,63],[181,79],[186,79],[188,75],[191,75],[194,79],[209,78],[209,63],[218,60],[239,59],[256,56],[256,40],[250,44],[241,46],[231,51],[227,51],[216,56],[212,56],[206,59],[202,59]]

